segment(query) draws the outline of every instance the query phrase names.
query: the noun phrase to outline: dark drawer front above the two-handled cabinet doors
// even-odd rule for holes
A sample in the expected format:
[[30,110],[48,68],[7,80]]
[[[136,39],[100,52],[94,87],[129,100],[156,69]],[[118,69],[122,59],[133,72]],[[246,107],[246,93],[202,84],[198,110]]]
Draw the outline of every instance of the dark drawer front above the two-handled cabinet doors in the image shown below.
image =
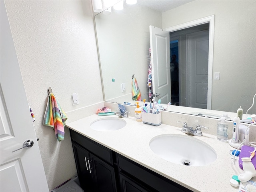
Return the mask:
[[70,136],[72,141],[80,144],[87,150],[89,150],[92,154],[102,158],[104,161],[113,165],[113,152],[112,150],[98,144],[97,142],[75,132],[70,129]]

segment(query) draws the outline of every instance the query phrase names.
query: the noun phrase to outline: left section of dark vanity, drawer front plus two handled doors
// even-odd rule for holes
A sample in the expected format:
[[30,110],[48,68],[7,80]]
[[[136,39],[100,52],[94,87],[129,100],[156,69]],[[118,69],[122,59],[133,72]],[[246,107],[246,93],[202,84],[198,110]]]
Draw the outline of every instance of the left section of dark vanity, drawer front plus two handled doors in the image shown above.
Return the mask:
[[81,188],[85,192],[117,192],[113,152],[74,131],[70,134]]

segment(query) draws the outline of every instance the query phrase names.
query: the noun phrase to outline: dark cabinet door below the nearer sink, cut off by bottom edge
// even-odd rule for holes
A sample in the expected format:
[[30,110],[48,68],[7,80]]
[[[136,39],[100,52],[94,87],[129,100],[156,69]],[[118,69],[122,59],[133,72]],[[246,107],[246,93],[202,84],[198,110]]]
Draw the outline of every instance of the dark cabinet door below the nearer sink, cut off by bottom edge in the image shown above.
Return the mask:
[[134,180],[126,177],[121,172],[119,173],[121,192],[151,192]]

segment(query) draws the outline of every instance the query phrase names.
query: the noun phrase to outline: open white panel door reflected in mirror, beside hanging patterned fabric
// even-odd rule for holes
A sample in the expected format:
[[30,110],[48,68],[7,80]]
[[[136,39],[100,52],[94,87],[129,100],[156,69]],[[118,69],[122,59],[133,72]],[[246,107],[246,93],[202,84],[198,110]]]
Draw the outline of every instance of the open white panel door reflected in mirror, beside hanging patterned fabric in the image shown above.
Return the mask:
[[169,32],[149,26],[154,101],[171,102],[170,36]]

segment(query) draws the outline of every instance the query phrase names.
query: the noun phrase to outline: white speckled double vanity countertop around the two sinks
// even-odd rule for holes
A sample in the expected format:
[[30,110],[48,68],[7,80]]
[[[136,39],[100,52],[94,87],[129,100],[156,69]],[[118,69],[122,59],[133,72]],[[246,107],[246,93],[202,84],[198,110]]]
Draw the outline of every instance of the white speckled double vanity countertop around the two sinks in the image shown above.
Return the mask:
[[[215,135],[190,136],[181,132],[181,127],[161,124],[153,126],[137,122],[134,117],[122,118],[126,126],[119,130],[102,132],[90,128],[90,124],[101,118],[118,118],[117,116],[97,116],[96,114],[70,122],[66,126],[107,148],[141,164],[142,166],[195,192],[238,192],[238,187],[230,185],[233,175],[243,172],[239,168],[238,158],[233,164],[228,142],[221,142]],[[162,134],[180,134],[193,137],[210,145],[217,154],[217,159],[206,166],[185,166],[174,164],[160,158],[150,149],[152,138]],[[178,143],[176,144],[178,145]],[[196,148],[193,150],[197,150]],[[252,178],[256,181],[256,177]]]

